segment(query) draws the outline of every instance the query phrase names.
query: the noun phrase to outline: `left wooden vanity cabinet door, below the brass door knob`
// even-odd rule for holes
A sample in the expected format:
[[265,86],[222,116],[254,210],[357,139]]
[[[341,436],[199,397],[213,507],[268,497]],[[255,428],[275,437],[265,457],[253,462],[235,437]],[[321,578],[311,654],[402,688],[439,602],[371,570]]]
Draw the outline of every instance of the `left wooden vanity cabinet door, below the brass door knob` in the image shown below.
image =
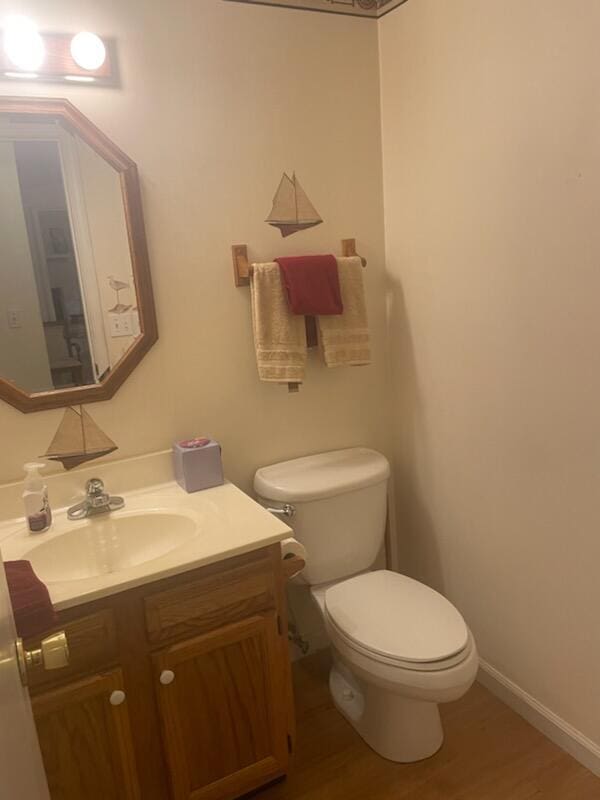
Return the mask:
[[32,701],[52,800],[138,800],[121,670]]

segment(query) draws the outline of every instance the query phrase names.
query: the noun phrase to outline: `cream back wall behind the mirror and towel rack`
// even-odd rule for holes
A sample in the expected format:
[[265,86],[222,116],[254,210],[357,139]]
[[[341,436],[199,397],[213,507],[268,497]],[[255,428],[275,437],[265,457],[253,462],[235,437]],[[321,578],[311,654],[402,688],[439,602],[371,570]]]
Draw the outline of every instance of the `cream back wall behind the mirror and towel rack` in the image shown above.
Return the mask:
[[[68,97],[140,169],[160,340],[112,401],[90,408],[119,444],[115,457],[208,433],[223,444],[228,476],[248,489],[256,467],[282,458],[358,443],[385,450],[376,24],[221,0],[0,9],[42,29],[118,40],[122,89],[0,81],[2,94]],[[325,219],[286,240],[263,221],[283,170],[297,171]],[[299,394],[259,383],[249,290],[234,287],[231,245],[264,259],[339,252],[351,236],[369,259],[373,366],[327,370],[311,354]],[[0,481],[19,478],[61,416],[0,405]]]

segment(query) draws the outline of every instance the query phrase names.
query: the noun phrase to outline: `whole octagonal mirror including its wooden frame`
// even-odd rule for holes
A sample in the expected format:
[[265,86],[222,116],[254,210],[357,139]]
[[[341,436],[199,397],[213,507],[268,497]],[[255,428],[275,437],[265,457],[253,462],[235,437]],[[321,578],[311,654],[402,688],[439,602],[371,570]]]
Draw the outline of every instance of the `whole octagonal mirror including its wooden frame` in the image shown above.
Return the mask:
[[0,97],[0,398],[107,400],[156,339],[136,165],[67,100]]

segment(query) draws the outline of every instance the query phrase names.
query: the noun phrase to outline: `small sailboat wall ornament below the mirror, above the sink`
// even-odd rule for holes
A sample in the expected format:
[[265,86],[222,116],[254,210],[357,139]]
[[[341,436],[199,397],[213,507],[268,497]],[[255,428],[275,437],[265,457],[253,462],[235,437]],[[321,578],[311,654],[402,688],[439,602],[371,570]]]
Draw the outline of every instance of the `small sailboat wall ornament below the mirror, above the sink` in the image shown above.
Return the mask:
[[83,406],[67,408],[50,446],[42,458],[60,461],[66,470],[108,455],[117,445],[100,430]]

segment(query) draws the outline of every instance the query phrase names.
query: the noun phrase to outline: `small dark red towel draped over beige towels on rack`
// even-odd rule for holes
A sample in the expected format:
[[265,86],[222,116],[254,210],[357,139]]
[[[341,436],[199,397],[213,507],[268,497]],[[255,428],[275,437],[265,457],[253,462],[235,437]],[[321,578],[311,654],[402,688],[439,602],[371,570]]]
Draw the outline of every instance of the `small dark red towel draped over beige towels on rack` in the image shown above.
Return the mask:
[[292,314],[342,314],[342,293],[335,256],[276,259]]

